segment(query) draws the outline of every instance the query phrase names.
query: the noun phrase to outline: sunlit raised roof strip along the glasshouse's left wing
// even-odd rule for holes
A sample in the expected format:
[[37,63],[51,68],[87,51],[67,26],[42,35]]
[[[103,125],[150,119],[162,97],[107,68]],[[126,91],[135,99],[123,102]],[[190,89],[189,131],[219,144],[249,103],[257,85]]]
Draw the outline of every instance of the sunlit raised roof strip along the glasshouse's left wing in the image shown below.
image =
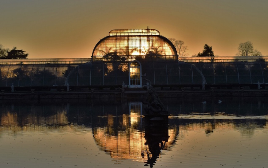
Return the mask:
[[42,59],[0,59],[0,65],[17,64],[84,64],[91,58],[42,58]]

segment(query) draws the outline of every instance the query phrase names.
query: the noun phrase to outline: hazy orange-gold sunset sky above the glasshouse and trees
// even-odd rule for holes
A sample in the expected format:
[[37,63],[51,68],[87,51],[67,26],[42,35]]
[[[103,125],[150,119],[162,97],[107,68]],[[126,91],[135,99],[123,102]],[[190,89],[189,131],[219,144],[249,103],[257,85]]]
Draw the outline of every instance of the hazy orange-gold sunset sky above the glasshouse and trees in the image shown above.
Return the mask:
[[268,55],[266,0],[1,0],[0,44],[28,58],[87,58],[113,29],[156,29],[183,40],[188,56],[212,46],[235,56],[251,41]]

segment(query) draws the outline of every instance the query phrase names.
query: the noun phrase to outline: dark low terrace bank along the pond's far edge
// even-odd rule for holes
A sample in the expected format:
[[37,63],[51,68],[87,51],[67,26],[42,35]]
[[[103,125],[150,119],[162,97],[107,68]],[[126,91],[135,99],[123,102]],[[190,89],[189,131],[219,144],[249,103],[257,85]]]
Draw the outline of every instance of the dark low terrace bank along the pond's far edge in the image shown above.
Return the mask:
[[[267,97],[268,89],[211,89],[211,90],[156,90],[159,97]],[[0,100],[12,99],[139,99],[146,95],[142,89],[119,90],[88,90],[88,91],[14,91],[0,93]]]

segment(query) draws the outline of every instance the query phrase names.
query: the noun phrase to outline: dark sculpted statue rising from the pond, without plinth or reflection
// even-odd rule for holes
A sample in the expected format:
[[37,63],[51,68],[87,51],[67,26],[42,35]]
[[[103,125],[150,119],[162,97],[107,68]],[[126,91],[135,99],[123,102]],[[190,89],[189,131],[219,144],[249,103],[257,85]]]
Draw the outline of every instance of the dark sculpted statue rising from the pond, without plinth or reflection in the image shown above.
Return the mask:
[[145,80],[147,81],[147,84],[143,86],[143,89],[147,90],[147,94],[146,94],[146,99],[142,100],[142,103],[147,104],[147,107],[145,107],[144,110],[148,114],[159,114],[161,112],[167,113],[167,111],[164,108],[163,103],[161,102],[153,86],[151,85],[151,81],[146,78]]

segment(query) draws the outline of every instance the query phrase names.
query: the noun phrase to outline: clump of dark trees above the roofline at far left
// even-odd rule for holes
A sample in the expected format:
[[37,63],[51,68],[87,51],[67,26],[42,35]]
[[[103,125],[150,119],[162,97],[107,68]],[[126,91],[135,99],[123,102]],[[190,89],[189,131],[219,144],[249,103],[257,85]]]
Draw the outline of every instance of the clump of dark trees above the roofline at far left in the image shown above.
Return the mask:
[[0,44],[0,59],[22,59],[27,58],[28,55],[28,53],[25,53],[22,49],[17,49],[17,47],[13,47],[10,50]]

